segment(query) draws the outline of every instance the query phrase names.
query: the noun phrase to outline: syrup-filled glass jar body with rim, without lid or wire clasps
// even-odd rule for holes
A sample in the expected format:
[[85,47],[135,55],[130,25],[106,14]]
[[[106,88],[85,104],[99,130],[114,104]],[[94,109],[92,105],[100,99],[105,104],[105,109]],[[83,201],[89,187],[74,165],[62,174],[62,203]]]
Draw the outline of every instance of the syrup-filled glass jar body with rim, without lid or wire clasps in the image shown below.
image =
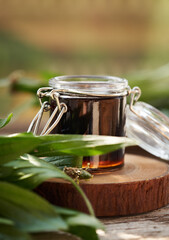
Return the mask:
[[[51,133],[125,136],[128,81],[112,76],[60,76],[49,81],[67,112]],[[51,114],[57,102],[51,101]],[[53,119],[55,121],[56,119]],[[83,158],[83,167],[109,171],[124,164],[124,149]]]

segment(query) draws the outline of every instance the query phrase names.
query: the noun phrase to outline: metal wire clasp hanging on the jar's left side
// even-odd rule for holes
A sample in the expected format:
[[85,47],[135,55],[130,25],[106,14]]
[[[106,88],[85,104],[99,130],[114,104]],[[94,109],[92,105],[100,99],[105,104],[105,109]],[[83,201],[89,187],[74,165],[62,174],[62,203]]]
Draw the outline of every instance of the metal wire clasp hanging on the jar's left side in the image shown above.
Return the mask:
[[[50,103],[48,101],[42,102],[42,99],[44,97],[49,97],[52,100],[56,101],[56,108],[52,112],[42,132],[40,133],[40,135],[48,135],[57,126],[63,114],[67,112],[67,106],[65,103],[59,102],[59,93],[55,89],[52,89],[49,87],[39,88],[37,91],[37,96],[39,98],[41,108],[39,112],[36,114],[36,116],[34,117],[34,119],[32,120],[27,132],[31,132],[34,128],[33,134],[37,135],[43,113],[51,110]],[[54,121],[53,124],[51,124],[54,117],[56,117],[56,120]]]

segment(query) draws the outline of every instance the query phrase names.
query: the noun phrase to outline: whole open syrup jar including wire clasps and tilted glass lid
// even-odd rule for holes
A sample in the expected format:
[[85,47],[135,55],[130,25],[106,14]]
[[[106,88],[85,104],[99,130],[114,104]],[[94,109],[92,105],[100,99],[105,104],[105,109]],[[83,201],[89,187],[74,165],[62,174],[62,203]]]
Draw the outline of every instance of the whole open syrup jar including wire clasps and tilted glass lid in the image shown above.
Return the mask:
[[[169,118],[153,106],[138,102],[139,87],[130,89],[126,79],[112,76],[59,76],[51,79],[49,85],[37,91],[41,108],[27,132],[34,128],[37,135],[43,113],[50,111],[40,135],[127,135],[147,152],[169,161]],[[128,95],[130,104],[126,107]],[[42,101],[46,97],[50,102]],[[123,164],[124,149],[83,159],[83,167],[96,172]]]

